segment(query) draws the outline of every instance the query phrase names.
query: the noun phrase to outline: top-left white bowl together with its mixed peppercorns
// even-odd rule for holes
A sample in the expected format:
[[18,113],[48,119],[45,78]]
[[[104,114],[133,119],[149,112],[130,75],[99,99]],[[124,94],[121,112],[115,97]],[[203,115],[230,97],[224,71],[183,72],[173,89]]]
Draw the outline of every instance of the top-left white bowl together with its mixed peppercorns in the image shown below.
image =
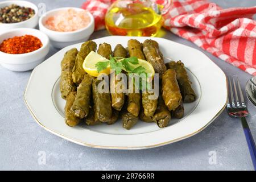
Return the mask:
[[0,2],[0,31],[13,28],[35,28],[38,25],[38,19],[38,7],[31,2]]

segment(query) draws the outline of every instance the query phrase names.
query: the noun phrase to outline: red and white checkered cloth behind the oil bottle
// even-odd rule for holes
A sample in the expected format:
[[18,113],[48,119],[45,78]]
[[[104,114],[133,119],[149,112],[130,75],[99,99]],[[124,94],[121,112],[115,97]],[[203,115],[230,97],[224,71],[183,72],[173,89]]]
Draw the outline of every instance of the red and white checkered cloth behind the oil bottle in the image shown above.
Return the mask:
[[[115,0],[88,0],[82,8],[93,14],[96,30],[105,28],[104,16]],[[221,9],[207,0],[173,0],[164,27],[256,76],[256,13],[254,7]]]

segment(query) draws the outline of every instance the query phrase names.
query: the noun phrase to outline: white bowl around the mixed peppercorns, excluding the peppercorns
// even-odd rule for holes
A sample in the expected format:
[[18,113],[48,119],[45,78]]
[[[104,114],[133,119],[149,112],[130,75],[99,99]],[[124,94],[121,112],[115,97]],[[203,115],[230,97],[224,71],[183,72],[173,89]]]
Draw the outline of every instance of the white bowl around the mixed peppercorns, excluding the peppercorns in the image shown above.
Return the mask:
[[31,9],[35,10],[35,15],[32,16],[30,19],[24,20],[23,22],[19,23],[0,23],[0,31],[5,30],[12,30],[14,28],[35,28],[38,25],[38,7],[31,2],[27,1],[3,1],[0,2],[0,8],[9,6],[9,5],[19,5],[24,7],[30,7]]

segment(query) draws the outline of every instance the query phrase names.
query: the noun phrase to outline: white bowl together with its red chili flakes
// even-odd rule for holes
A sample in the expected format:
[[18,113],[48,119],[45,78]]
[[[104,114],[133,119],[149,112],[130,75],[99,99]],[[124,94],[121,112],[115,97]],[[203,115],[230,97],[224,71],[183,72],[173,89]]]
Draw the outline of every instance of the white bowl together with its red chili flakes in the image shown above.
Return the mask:
[[49,38],[33,28],[16,28],[0,34],[0,64],[11,71],[28,71],[42,63]]

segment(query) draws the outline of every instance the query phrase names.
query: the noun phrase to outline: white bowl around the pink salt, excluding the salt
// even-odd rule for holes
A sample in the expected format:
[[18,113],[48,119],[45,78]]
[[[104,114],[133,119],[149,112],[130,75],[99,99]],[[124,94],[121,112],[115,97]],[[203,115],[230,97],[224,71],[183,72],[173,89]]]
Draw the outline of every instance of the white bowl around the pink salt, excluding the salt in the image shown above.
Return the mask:
[[39,19],[39,29],[49,36],[49,39],[51,40],[51,44],[53,47],[64,48],[76,43],[85,42],[86,40],[89,39],[89,36],[94,31],[94,18],[92,14],[90,14],[89,12],[87,13],[90,17],[90,23],[88,24],[88,26],[81,28],[80,30],[71,31],[71,32],[58,32],[58,31],[49,30],[49,28],[44,26],[48,16],[52,16],[59,11],[68,10],[68,9],[74,9],[76,11],[84,11],[83,9],[76,8],[76,7],[64,7],[64,8],[48,11],[46,14],[42,15]]

